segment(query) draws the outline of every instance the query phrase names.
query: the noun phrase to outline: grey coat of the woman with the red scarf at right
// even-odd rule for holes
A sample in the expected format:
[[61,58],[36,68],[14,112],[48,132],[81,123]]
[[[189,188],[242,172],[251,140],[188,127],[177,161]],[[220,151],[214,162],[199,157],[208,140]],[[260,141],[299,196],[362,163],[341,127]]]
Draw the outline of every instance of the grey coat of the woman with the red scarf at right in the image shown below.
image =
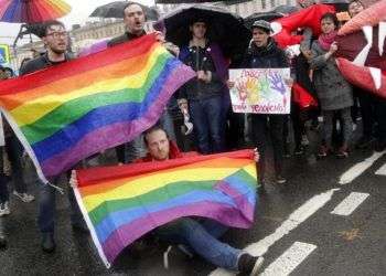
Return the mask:
[[326,51],[322,50],[318,41],[312,43],[313,59],[310,61],[313,70],[313,83],[322,110],[336,110],[354,104],[352,86],[339,72],[335,60],[324,59]]

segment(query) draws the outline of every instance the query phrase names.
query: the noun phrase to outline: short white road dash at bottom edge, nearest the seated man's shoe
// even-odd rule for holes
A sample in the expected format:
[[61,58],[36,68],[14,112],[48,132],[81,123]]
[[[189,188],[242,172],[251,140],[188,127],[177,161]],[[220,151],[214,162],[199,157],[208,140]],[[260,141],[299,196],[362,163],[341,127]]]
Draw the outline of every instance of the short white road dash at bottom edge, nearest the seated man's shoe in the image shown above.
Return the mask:
[[308,243],[296,242],[280,257],[271,263],[261,276],[286,276],[300,265],[308,255],[317,250],[317,246]]

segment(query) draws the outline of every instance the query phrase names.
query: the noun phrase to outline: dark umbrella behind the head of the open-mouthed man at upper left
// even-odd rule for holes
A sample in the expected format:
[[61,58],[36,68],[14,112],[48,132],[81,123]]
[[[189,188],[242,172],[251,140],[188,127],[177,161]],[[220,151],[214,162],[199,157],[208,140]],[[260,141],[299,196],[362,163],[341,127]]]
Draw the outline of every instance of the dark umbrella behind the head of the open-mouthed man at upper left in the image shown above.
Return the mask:
[[[100,6],[96,8],[89,17],[90,18],[124,18],[124,9],[128,3],[129,3],[128,1],[116,1],[116,2]],[[154,21],[158,20],[159,14],[156,9],[149,8],[143,4],[139,4],[139,6],[142,7],[147,20],[154,20]]]

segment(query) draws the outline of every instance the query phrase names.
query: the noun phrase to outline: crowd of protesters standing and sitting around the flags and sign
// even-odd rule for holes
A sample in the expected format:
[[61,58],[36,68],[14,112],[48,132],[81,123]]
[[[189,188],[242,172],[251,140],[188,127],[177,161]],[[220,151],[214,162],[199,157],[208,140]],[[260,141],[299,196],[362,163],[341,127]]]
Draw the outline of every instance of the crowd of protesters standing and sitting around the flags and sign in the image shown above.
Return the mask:
[[[309,4],[312,4],[310,1]],[[364,9],[361,1],[349,4],[349,13],[355,17]],[[146,15],[141,6],[128,3],[122,11],[126,32],[107,43],[108,47],[136,40],[147,32],[143,29]],[[259,161],[258,181],[264,187],[267,182],[267,151],[271,140],[274,151],[275,181],[278,184],[287,182],[283,170],[283,156],[289,155],[288,130],[293,127],[294,155],[304,152],[307,140],[305,123],[318,128],[323,121],[320,147],[315,155],[324,158],[336,155],[347,158],[351,150],[374,147],[375,150],[386,149],[386,100],[368,92],[354,87],[344,79],[335,64],[334,53],[339,49],[335,43],[337,29],[342,24],[334,13],[325,13],[321,21],[322,34],[309,38],[300,46],[299,56],[289,56],[270,36],[272,29],[269,22],[256,21],[251,26],[251,42],[245,50],[244,60],[232,67],[239,68],[281,68],[291,67],[291,79],[308,82],[308,87],[314,92],[319,106],[301,108],[292,103],[290,115],[234,114],[229,103],[229,88],[234,79],[228,79],[228,63],[222,55],[221,45],[207,35],[211,28],[205,18],[196,17],[190,22],[191,39],[186,45],[173,45],[164,41],[162,32],[157,32],[158,40],[164,44],[171,54],[196,72],[196,77],[184,84],[161,115],[157,127],[151,128],[136,140],[116,148],[117,163],[132,161],[162,161],[180,156],[179,145],[183,150],[196,150],[202,155],[224,152],[245,147],[257,147]],[[41,68],[55,66],[72,59],[67,55],[67,31],[60,21],[45,24],[42,41],[46,52],[36,59],[26,61],[20,68],[20,75]],[[301,66],[298,66],[301,64]],[[0,79],[13,77],[12,72],[0,68]],[[194,136],[185,136],[181,131],[184,123],[182,115],[189,115],[193,124]],[[357,112],[360,110],[360,112]],[[358,142],[354,142],[353,126],[362,117],[363,134]],[[289,124],[292,121],[292,124]],[[28,192],[23,178],[23,148],[7,121],[2,121],[4,142],[1,147],[0,179],[0,216],[11,213],[9,206],[8,183],[14,187],[13,194],[23,202],[31,202],[34,197]],[[341,127],[337,127],[341,126]],[[186,139],[193,145],[186,146]],[[143,156],[148,152],[148,156]],[[178,153],[176,153],[178,152]],[[68,173],[67,173],[68,177]],[[53,182],[58,182],[53,180]],[[55,250],[55,189],[51,185],[39,185],[37,224],[42,234],[42,250],[52,253]],[[82,213],[76,204],[72,189],[68,189],[71,203],[71,221],[73,230],[87,233]],[[212,221],[181,219],[156,231],[157,235],[170,242],[187,246],[210,263],[232,270],[256,275],[262,264],[262,257],[254,257],[240,250],[233,248],[218,241],[224,233],[222,225],[213,226]],[[210,227],[206,227],[211,224]],[[212,231],[215,229],[215,233]],[[0,230],[1,232],[1,230]],[[213,233],[212,233],[213,232]],[[1,240],[1,234],[0,234]],[[210,245],[210,246],[208,246]]]

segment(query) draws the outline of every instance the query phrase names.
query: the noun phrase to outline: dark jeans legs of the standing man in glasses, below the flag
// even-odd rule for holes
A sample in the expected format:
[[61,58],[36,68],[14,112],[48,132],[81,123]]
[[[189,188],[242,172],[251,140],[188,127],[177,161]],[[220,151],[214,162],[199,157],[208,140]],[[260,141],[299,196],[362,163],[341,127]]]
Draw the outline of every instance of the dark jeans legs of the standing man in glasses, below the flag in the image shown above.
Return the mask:
[[[57,181],[55,181],[57,182]],[[56,183],[55,183],[56,184]],[[39,197],[39,215],[37,225],[42,233],[54,233],[55,229],[55,199],[56,189],[49,185],[40,183],[40,197]],[[71,222],[72,224],[84,223],[83,215],[79,206],[76,203],[75,194],[72,188],[67,191],[69,206],[71,206]]]

